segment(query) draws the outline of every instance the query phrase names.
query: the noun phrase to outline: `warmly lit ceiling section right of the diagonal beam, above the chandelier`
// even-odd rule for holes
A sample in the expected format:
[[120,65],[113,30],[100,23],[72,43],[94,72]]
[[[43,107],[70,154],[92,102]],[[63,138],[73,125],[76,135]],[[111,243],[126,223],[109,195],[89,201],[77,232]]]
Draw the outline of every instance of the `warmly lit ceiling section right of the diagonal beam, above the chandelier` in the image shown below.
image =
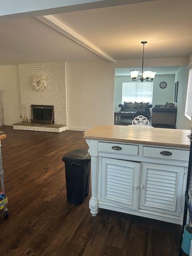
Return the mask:
[[159,0],[55,15],[115,60],[189,56],[192,0]]

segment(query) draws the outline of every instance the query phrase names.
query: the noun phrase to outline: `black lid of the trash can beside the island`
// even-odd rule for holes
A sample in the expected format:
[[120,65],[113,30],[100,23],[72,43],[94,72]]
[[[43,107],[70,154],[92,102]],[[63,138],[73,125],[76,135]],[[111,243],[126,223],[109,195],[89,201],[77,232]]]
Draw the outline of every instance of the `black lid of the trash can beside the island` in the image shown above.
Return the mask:
[[79,149],[72,150],[72,151],[68,152],[67,154],[65,154],[63,156],[62,160],[64,162],[65,161],[74,161],[74,160],[76,160],[76,162],[89,162],[90,154],[88,153],[87,149],[79,148]]

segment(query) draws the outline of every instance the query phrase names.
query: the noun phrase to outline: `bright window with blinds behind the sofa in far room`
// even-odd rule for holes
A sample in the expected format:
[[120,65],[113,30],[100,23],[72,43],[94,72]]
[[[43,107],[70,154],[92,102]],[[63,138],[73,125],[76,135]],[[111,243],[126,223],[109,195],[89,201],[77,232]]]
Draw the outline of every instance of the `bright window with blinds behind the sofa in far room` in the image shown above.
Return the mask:
[[153,82],[123,83],[122,102],[149,102],[152,103]]

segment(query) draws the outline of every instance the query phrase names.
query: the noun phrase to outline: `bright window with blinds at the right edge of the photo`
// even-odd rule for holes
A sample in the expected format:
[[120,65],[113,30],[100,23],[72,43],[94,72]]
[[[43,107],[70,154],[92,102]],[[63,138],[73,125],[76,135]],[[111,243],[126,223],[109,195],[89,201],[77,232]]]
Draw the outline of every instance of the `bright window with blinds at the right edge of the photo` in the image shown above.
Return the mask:
[[188,79],[186,105],[185,105],[185,116],[189,120],[191,120],[191,116],[192,116],[192,68],[189,70],[189,79]]

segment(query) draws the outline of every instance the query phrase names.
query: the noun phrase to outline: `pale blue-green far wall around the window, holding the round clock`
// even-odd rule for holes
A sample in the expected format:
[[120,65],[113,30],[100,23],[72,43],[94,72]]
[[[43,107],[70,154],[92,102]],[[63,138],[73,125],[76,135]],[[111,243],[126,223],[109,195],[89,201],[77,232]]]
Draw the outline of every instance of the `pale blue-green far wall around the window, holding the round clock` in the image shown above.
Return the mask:
[[[153,81],[153,106],[156,104],[165,104],[168,102],[173,102],[174,93],[174,79],[175,75],[157,75]],[[167,87],[161,89],[160,82],[165,81]],[[122,83],[132,82],[130,76],[115,76],[115,100],[114,100],[114,110],[119,111],[120,108],[118,104],[122,103]]]

